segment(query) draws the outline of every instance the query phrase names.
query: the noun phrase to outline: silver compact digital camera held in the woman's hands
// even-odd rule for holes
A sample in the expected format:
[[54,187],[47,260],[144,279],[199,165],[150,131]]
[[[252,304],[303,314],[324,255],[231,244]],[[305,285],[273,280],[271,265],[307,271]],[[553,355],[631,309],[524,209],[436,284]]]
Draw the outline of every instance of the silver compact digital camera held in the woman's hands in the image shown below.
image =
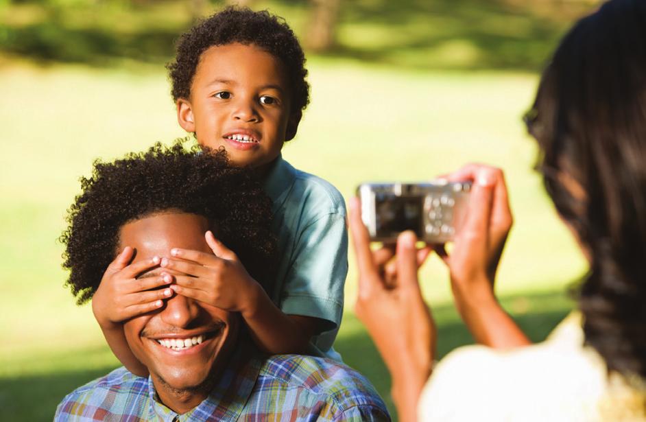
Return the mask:
[[362,183],[357,196],[371,240],[396,242],[411,230],[424,242],[442,244],[462,226],[470,191],[470,182]]

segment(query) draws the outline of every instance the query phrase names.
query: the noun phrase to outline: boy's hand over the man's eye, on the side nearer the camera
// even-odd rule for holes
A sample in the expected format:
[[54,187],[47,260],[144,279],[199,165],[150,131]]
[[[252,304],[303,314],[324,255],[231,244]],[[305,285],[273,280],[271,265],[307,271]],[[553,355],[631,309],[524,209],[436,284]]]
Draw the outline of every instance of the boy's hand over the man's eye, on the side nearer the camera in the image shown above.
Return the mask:
[[173,276],[176,283],[170,288],[177,294],[226,311],[252,312],[258,282],[245,270],[237,255],[215,239],[211,231],[207,231],[205,237],[213,255],[173,248],[171,255],[176,259],[162,259],[163,268],[182,273]]

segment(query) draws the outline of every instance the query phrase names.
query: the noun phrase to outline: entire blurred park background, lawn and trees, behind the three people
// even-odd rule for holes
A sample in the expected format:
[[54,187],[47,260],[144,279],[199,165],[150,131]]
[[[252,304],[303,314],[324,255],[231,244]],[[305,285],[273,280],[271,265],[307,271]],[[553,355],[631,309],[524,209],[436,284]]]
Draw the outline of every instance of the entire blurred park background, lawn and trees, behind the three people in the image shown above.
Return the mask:
[[[428,180],[469,161],[505,170],[515,225],[497,292],[533,340],[573,306],[584,260],[537,174],[521,116],[584,0],[246,1],[307,45],[312,102],[283,150],[346,198],[366,180]],[[0,0],[0,419],[51,420],[62,397],[118,366],[64,288],[66,209],[94,159],[185,134],[164,64],[206,0]],[[392,408],[390,379],[352,313],[335,347]],[[442,263],[422,271],[440,357],[472,342]],[[468,382],[466,379],[465,382]]]

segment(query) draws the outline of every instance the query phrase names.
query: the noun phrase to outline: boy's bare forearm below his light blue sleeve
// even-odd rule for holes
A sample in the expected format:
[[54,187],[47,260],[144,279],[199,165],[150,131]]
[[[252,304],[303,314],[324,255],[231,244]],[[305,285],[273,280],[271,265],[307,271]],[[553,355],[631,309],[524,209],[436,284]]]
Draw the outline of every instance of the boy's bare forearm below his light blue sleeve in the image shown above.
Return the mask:
[[241,314],[263,351],[272,354],[307,351],[313,333],[294,316],[283,314],[260,285],[254,289],[247,309]]

